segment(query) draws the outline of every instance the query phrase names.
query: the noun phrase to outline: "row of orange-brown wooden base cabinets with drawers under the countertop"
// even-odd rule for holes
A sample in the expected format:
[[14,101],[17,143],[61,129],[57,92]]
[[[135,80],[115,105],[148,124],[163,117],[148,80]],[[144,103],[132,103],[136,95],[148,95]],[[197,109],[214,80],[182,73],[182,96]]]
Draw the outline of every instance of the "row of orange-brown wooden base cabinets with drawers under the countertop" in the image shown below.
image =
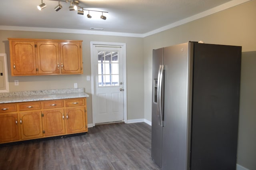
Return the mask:
[[88,132],[86,98],[7,103],[0,109],[0,143]]

